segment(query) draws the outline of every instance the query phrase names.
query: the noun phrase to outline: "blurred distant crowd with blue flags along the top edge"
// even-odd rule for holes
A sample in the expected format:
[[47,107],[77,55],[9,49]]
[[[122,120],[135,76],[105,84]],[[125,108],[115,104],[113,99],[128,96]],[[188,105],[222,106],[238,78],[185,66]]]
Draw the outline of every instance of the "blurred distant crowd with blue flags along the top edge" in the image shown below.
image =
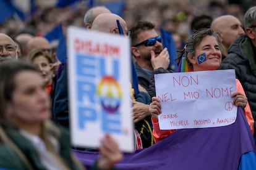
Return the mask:
[[[11,37],[19,33],[44,36],[62,23],[64,33],[69,25],[83,26],[83,17],[92,6],[106,5],[126,20],[128,29],[139,20],[149,20],[156,30],[163,27],[186,41],[192,20],[199,15],[213,19],[231,14],[243,20],[244,12],[256,5],[254,0],[1,0],[0,32]],[[4,5],[2,5],[4,4]],[[19,9],[20,13],[11,7]],[[8,9],[9,8],[9,9]],[[114,11],[113,11],[114,10]]]

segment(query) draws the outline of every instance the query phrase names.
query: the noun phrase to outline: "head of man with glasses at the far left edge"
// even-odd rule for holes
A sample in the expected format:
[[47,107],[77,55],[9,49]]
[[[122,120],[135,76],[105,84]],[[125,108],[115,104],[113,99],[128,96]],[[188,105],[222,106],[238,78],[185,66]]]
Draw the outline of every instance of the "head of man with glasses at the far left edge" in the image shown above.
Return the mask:
[[0,62],[18,59],[17,46],[6,34],[0,33]]

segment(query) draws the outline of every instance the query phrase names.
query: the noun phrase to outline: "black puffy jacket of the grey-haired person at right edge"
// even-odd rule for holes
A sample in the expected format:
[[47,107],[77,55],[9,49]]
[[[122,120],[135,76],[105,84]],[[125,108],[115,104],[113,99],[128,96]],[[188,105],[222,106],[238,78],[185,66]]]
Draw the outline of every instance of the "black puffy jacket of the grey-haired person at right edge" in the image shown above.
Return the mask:
[[228,49],[220,69],[233,68],[236,78],[241,81],[249,101],[254,121],[256,120],[256,54],[250,38],[246,34],[236,39]]

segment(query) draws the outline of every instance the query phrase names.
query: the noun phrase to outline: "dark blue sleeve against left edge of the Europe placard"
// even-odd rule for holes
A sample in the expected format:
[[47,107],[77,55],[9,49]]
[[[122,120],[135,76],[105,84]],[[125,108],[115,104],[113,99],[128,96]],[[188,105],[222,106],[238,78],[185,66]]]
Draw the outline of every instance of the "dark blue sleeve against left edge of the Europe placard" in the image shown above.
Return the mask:
[[53,99],[53,120],[64,127],[69,127],[69,99],[67,90],[67,67],[65,67],[56,83]]

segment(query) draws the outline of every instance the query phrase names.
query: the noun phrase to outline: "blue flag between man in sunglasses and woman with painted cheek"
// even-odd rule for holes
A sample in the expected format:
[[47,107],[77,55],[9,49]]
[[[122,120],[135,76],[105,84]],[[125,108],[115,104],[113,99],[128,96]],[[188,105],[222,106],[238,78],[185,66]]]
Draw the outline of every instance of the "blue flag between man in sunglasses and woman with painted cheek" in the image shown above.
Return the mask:
[[173,36],[171,35],[171,33],[164,30],[163,28],[160,28],[160,32],[163,40],[163,47],[166,47],[169,52],[169,68],[171,68],[174,71],[177,71],[177,63],[175,62],[175,59],[177,58],[177,52]]

